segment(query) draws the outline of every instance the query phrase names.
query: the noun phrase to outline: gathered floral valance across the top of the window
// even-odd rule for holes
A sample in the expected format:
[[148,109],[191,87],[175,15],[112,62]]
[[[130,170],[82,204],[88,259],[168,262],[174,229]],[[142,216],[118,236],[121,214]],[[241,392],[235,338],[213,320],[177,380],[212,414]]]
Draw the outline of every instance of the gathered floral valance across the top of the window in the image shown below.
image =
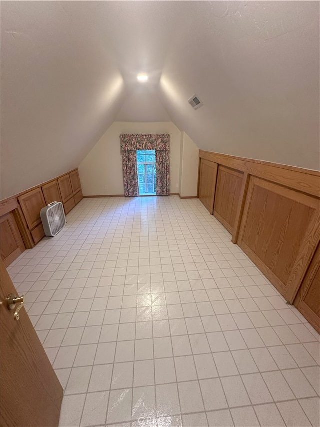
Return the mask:
[[170,151],[169,134],[121,134],[120,141],[122,151]]

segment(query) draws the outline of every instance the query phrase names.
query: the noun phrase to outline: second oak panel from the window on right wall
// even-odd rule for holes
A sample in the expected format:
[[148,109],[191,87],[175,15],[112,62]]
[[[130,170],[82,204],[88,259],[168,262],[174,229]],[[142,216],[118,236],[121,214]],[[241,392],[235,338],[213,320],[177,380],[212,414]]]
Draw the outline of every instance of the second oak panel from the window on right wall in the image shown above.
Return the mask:
[[219,165],[213,215],[233,233],[237,207],[240,202],[243,172]]

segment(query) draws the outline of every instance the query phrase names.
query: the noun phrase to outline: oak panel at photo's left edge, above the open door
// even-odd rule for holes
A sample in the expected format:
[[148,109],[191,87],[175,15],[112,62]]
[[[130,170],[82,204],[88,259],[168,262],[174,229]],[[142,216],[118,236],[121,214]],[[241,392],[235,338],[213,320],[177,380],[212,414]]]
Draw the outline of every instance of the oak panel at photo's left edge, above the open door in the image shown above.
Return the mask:
[[24,250],[25,245],[13,212],[8,212],[1,216],[1,258],[4,265],[10,265]]

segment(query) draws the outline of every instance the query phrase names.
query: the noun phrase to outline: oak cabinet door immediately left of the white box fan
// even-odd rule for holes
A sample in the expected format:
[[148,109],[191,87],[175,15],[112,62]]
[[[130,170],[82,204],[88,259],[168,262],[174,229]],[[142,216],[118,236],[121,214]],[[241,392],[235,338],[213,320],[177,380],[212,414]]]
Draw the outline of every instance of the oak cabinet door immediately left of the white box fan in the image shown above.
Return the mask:
[[30,230],[41,223],[40,210],[45,206],[41,187],[38,187],[18,198],[27,225]]

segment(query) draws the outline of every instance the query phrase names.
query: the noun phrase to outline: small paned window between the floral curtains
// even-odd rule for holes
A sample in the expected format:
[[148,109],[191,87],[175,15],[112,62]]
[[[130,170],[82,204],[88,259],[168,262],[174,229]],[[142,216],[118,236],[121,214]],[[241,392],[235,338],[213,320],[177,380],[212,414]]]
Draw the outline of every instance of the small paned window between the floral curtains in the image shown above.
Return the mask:
[[136,151],[139,194],[156,194],[155,181],[155,151],[137,150]]

